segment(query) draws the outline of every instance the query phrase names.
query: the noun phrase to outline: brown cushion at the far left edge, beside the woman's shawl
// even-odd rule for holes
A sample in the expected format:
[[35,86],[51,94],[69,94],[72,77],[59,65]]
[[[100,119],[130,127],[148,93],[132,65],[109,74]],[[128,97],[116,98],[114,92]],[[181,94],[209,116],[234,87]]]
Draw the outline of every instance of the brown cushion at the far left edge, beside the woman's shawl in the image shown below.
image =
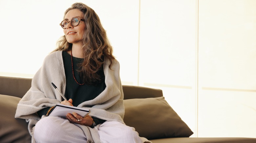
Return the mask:
[[31,142],[28,123],[24,119],[14,118],[21,98],[0,94],[0,99],[0,142]]

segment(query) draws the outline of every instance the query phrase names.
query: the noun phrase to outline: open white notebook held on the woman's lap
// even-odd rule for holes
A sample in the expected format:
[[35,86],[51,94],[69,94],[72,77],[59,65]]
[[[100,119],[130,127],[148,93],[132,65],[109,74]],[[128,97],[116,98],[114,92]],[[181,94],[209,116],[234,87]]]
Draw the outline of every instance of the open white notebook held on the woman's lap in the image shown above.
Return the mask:
[[64,104],[57,104],[52,112],[50,113],[49,116],[60,116],[62,118],[66,118],[66,115],[68,113],[77,113],[82,117],[87,116],[90,113],[89,109],[84,109],[80,107],[75,107],[75,106],[69,106],[69,105],[64,105]]

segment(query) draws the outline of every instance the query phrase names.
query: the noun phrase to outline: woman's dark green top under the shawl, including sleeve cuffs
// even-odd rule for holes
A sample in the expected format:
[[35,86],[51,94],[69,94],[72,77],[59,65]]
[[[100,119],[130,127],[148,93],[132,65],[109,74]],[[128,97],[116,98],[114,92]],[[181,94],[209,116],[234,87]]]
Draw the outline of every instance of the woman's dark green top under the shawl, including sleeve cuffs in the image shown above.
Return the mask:
[[[63,57],[65,75],[66,75],[66,90],[65,90],[64,96],[67,98],[67,100],[72,99],[73,100],[72,104],[74,106],[78,106],[80,103],[85,101],[93,100],[106,88],[106,84],[104,82],[105,76],[104,76],[103,69],[98,72],[98,74],[100,74],[101,77],[104,78],[102,82],[98,83],[97,85],[86,85],[86,84],[79,85],[75,82],[75,79],[78,83],[80,84],[83,83],[83,81],[79,76],[79,72],[77,71],[79,70],[78,64],[81,64],[83,62],[83,58],[76,58],[73,56],[73,68],[74,68],[74,75],[75,75],[75,79],[74,79],[73,72],[72,72],[71,56],[67,52],[63,51],[62,57]],[[49,109],[50,107],[44,108],[38,111],[37,113],[41,117],[43,115],[46,115]],[[96,124],[105,122],[105,120],[102,120],[102,119],[97,119],[94,117],[93,119]]]

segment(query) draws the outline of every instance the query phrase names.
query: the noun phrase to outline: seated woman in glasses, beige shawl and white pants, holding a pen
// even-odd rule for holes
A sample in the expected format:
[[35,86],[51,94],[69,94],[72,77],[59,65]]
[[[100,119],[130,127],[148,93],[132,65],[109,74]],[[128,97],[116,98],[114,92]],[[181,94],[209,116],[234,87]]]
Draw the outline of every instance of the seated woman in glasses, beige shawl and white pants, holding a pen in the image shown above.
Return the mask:
[[[16,110],[15,118],[29,122],[32,142],[149,142],[123,122],[119,63],[94,10],[75,3],[60,26],[65,36],[45,58]],[[69,100],[63,101],[51,83]],[[57,103],[90,109],[90,116],[48,117]]]

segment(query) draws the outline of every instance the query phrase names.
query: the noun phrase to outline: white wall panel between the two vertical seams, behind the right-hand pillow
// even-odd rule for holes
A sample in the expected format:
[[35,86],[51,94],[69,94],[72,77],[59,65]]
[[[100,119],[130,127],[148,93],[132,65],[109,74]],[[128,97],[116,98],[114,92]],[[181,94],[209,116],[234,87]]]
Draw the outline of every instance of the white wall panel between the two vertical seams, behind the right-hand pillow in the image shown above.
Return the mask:
[[197,1],[141,0],[139,85],[163,90],[196,135]]

